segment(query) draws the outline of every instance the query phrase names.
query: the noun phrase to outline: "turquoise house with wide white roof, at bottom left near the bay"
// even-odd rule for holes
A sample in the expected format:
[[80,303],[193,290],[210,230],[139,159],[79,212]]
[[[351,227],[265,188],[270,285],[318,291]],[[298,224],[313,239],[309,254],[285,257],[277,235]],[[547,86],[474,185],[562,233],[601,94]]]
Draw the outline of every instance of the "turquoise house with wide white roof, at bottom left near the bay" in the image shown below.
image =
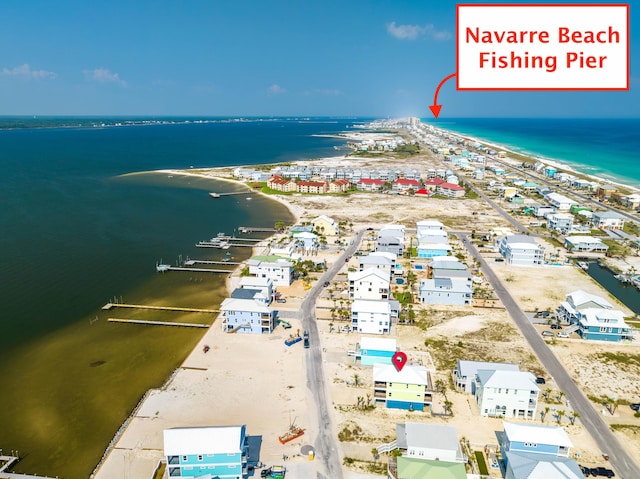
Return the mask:
[[244,425],[176,427],[165,429],[163,438],[169,477],[248,477]]

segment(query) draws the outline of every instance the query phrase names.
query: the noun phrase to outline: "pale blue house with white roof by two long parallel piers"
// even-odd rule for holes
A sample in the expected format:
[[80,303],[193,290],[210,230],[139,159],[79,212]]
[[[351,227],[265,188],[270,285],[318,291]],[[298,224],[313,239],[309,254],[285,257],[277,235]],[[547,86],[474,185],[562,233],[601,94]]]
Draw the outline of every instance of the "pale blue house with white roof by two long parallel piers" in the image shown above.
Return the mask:
[[226,298],[220,305],[222,330],[227,333],[269,334],[276,326],[277,311],[255,299]]

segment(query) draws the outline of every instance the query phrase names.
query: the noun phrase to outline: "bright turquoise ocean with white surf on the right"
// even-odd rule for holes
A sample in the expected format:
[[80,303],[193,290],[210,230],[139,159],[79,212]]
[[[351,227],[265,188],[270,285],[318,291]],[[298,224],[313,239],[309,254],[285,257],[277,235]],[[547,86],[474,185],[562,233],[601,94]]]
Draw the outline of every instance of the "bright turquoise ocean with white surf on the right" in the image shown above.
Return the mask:
[[640,188],[640,118],[464,118],[425,123]]

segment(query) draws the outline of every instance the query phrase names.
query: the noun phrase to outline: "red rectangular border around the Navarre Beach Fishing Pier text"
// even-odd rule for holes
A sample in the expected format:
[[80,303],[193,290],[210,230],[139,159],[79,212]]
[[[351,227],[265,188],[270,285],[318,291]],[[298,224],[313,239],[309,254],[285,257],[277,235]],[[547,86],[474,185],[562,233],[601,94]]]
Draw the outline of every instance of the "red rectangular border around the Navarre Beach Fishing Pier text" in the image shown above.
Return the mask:
[[459,3],[456,5],[456,73],[458,68],[458,12],[460,7],[625,7],[627,10],[627,86],[624,88],[460,88],[456,75],[456,90],[460,91],[628,91],[630,81],[631,42],[630,6],[628,3]]

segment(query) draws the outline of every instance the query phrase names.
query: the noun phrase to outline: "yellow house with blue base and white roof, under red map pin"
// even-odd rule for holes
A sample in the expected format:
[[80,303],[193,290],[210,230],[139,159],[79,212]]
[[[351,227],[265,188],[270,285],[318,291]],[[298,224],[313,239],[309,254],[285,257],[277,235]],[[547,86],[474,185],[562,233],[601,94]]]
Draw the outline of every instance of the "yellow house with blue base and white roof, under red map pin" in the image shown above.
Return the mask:
[[422,411],[433,400],[431,376],[424,366],[407,364],[400,371],[392,364],[373,365],[376,404],[391,409]]

